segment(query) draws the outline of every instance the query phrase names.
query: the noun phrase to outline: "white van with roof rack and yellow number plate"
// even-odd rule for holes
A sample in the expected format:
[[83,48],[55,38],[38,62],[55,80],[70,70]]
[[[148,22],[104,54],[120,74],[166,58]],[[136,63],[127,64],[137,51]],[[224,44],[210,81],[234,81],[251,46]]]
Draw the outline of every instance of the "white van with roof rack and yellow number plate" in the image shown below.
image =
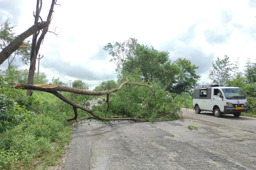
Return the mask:
[[239,117],[247,112],[247,100],[239,87],[219,87],[219,85],[196,86],[193,94],[193,108],[197,114],[211,111],[215,117],[233,114]]

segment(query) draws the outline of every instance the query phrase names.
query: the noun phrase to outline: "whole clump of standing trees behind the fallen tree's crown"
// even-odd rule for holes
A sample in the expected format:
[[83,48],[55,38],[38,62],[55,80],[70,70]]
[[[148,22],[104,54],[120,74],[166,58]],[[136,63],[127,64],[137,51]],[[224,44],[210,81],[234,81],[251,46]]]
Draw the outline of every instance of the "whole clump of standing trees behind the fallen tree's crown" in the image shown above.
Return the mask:
[[144,82],[158,82],[169,92],[190,90],[200,77],[195,73],[198,67],[191,65],[189,60],[179,58],[172,63],[168,51],[138,44],[136,39],[114,45],[108,43],[104,50],[112,55],[111,61],[117,65],[120,77],[127,73],[138,74]]

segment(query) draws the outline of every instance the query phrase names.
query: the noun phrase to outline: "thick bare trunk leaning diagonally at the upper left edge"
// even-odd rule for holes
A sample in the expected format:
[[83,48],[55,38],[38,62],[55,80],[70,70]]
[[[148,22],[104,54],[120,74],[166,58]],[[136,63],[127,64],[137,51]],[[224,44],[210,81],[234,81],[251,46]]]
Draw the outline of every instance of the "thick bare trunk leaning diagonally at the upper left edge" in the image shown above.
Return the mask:
[[37,23],[30,27],[27,31],[19,35],[12,42],[9,43],[1,52],[0,52],[0,65],[14,52],[19,46],[26,40],[29,36],[37,33],[39,30],[47,27],[50,23],[50,20],[47,20],[43,23]]

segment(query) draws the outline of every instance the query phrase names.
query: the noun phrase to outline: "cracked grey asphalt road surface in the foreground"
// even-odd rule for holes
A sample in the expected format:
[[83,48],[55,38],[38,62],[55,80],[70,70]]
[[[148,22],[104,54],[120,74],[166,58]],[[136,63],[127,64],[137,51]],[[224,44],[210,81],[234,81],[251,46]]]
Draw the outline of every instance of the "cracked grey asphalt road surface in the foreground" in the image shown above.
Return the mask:
[[[91,121],[74,127],[55,169],[256,170],[256,119],[183,111],[184,119],[153,124]],[[189,125],[198,130],[189,130]],[[53,167],[54,168],[54,167]]]

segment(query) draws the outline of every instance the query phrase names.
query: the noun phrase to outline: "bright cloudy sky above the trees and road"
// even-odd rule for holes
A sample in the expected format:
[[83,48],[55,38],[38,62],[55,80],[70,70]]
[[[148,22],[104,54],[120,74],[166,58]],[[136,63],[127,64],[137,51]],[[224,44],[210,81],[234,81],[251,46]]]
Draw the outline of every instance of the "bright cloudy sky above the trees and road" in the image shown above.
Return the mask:
[[[51,0],[43,0],[45,21]],[[62,1],[54,7],[50,30],[39,53],[40,72],[49,79],[83,80],[93,89],[100,82],[116,79],[111,56],[103,50],[108,42],[136,38],[138,43],[168,50],[199,66],[200,82],[208,82],[211,63],[219,56],[239,59],[240,71],[247,58],[256,62],[256,0],[249,1],[161,1],[108,0]],[[21,34],[34,23],[36,0],[0,0],[0,23],[9,19]],[[29,38],[31,39],[31,37]],[[19,60],[16,64],[23,69]],[[0,65],[6,68],[8,62]]]

